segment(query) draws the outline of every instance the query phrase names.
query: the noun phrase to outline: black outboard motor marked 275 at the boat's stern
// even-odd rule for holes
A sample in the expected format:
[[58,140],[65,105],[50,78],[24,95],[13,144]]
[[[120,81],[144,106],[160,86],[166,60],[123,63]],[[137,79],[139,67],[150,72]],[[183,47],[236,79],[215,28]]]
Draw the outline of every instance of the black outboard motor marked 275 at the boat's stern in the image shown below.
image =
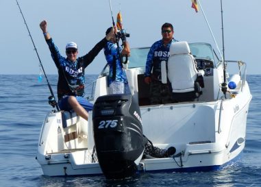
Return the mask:
[[147,138],[142,135],[140,108],[132,95],[97,98],[92,111],[99,165],[108,179],[122,179],[137,171]]

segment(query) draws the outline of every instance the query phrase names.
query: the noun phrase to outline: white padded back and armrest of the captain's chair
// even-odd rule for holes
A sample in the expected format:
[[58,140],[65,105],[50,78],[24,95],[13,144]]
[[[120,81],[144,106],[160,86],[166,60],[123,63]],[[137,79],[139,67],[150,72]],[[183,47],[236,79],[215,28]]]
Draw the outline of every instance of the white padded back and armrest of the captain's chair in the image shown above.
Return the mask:
[[[197,98],[199,94],[195,94],[198,92],[197,88],[195,90],[195,82],[202,73],[197,71],[195,59],[190,54],[188,42],[173,42],[169,53],[169,60],[166,64],[167,73],[162,73],[162,80],[166,82],[164,75],[167,75],[173,93],[191,92]],[[162,62],[163,66],[164,62]],[[162,71],[165,71],[164,68],[162,68]],[[173,97],[175,96],[173,95]],[[189,98],[192,99],[192,97]]]

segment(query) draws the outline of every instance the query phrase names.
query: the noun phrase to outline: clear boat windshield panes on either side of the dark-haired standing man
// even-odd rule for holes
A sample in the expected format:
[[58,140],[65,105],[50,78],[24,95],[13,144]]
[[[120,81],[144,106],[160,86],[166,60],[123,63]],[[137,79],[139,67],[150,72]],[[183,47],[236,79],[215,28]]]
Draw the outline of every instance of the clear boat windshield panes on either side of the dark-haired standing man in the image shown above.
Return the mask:
[[[213,49],[208,43],[190,43],[188,44],[190,51],[195,58],[205,58],[211,60],[213,63],[217,62],[214,57]],[[131,49],[131,56],[129,57],[129,68],[145,67],[149,47],[133,48]],[[214,63],[215,64],[215,63]]]

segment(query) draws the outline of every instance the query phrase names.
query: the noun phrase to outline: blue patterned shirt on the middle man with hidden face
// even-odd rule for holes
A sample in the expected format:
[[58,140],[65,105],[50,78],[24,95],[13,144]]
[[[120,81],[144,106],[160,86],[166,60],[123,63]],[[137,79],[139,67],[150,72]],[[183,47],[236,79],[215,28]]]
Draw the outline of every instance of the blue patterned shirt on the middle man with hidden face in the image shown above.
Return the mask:
[[[107,42],[103,48],[105,58],[108,65],[110,66],[109,70],[109,85],[115,80],[116,82],[123,82],[127,84],[127,77],[125,71],[123,71],[123,66],[121,60],[119,59],[119,53],[116,43]],[[120,47],[120,53],[122,47]]]

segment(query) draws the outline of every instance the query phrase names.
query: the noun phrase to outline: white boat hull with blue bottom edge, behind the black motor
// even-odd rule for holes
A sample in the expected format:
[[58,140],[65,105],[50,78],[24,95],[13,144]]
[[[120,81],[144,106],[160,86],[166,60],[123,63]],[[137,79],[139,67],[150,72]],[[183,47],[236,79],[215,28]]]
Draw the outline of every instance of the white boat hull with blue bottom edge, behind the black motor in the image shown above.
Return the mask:
[[[154,146],[161,149],[175,147],[177,154],[172,158],[142,158],[138,164],[138,171],[211,171],[223,169],[234,162],[245,147],[250,96],[243,99],[244,96],[238,95],[238,98],[227,101],[140,108],[144,121],[143,131],[147,138],[153,140]],[[226,112],[223,112],[224,110]],[[169,112],[171,113],[168,114]],[[202,114],[204,114],[203,119],[199,117]],[[49,114],[46,121],[50,123],[49,118],[53,118],[53,115]],[[164,120],[164,116],[172,116],[172,118]],[[146,120],[147,118],[150,120]],[[49,134],[48,131],[53,131],[52,128],[47,128],[48,126],[46,123],[43,125],[42,138],[45,134]],[[89,124],[88,127],[91,128],[92,125]],[[92,129],[88,132],[92,132]],[[99,163],[97,161],[92,163],[94,145],[92,134],[88,134],[89,148],[84,150],[47,154],[42,151],[42,145],[41,143],[38,145],[37,158],[44,175],[102,174]],[[51,155],[49,160],[47,160],[48,155]]]

